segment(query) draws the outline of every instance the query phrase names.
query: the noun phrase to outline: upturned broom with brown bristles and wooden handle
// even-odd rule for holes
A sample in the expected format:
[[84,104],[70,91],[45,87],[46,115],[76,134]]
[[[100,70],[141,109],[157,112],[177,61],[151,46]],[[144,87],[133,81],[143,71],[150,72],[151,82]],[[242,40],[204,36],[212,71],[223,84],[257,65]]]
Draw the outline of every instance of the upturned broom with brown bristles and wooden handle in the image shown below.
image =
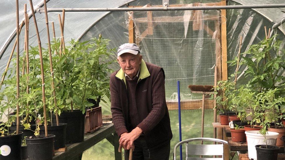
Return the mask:
[[[204,137],[204,115],[205,115],[205,95],[212,94],[213,87],[210,85],[189,85],[191,93],[203,94],[202,98],[202,122],[201,122],[201,137]],[[201,142],[203,144],[203,141]]]

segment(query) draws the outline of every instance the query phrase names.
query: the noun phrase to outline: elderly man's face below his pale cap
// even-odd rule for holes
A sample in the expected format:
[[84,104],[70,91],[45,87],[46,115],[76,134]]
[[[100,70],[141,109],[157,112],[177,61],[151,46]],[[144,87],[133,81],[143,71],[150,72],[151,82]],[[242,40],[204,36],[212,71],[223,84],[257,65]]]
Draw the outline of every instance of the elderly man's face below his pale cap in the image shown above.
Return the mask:
[[131,78],[134,78],[140,68],[142,55],[124,53],[117,58],[117,61],[123,69],[124,73],[126,73]]

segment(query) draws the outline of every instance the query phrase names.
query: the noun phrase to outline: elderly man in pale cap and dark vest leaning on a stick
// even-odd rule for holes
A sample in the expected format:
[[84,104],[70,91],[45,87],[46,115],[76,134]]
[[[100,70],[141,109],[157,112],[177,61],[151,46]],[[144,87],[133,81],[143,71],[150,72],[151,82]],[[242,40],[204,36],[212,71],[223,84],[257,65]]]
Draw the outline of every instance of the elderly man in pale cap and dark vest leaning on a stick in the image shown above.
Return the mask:
[[117,52],[121,68],[111,74],[111,111],[119,143],[133,159],[169,159],[172,132],[165,101],[164,71],[142,60],[136,44]]

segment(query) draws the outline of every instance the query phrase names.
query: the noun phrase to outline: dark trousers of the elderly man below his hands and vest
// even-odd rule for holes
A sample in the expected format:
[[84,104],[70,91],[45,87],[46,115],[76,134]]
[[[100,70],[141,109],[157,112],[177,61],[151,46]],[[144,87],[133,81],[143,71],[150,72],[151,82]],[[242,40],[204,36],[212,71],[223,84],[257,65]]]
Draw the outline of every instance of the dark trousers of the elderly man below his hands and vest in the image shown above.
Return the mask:
[[[153,148],[148,148],[144,139],[134,141],[135,150],[133,150],[132,160],[168,160],[170,154],[170,141],[159,144]],[[129,150],[125,150],[125,160],[129,159]]]

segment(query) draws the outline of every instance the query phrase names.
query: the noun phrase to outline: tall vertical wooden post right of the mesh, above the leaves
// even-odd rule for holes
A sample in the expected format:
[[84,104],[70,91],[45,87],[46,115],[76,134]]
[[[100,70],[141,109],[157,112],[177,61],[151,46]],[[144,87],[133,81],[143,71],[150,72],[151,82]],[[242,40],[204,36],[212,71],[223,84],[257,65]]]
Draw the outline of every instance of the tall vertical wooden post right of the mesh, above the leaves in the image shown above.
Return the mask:
[[[221,1],[222,6],[226,6],[226,0]],[[227,80],[227,24],[226,10],[221,10],[221,46],[222,46],[222,80]]]

